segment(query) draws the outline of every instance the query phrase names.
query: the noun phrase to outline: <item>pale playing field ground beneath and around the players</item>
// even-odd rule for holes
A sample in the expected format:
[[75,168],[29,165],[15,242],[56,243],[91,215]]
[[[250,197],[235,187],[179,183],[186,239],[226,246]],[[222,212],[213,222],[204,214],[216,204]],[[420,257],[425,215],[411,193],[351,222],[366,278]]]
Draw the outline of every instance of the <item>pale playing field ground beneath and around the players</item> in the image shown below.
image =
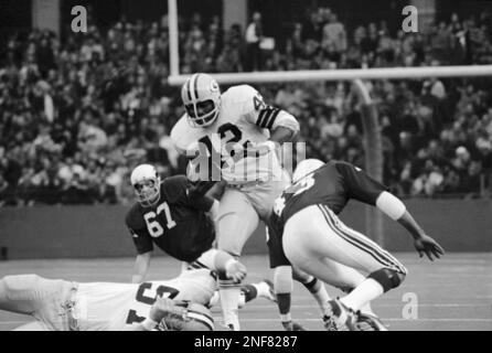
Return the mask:
[[[395,254],[408,268],[406,281],[373,303],[373,309],[389,325],[389,330],[492,331],[492,254],[447,254],[431,264],[414,253]],[[245,256],[248,267],[247,281],[270,277],[266,256]],[[7,275],[36,274],[46,278],[85,281],[128,281],[133,258],[111,259],[57,259],[10,260],[0,263],[0,277]],[[168,257],[156,257],[149,279],[168,279],[179,274],[180,264]],[[328,287],[330,295],[340,292]],[[418,300],[418,318],[404,319],[406,298],[415,293]],[[217,322],[220,308],[213,308]],[[296,284],[292,298],[292,315],[308,330],[322,330],[320,313],[309,292]],[[29,317],[0,311],[0,331],[11,330]],[[275,303],[265,299],[253,301],[240,311],[245,331],[281,330]]]

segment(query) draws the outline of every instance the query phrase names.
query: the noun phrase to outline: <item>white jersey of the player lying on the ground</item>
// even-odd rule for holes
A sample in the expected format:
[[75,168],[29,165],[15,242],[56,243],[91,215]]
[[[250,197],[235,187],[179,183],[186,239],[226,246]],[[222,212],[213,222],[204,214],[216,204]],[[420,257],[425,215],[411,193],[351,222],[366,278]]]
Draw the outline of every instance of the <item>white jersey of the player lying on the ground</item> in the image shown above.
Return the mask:
[[121,331],[148,318],[157,296],[207,304],[216,281],[207,269],[164,281],[79,284],[74,317],[81,331]]

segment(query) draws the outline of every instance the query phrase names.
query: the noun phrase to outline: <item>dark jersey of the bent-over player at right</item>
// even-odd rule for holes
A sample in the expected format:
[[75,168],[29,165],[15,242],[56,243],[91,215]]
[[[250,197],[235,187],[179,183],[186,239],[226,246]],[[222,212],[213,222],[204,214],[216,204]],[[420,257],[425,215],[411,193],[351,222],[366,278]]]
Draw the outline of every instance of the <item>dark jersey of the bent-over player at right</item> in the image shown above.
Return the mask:
[[268,221],[270,266],[288,265],[281,246],[284,225],[297,212],[322,204],[335,214],[342,212],[351,199],[375,205],[387,188],[351,163],[330,161],[288,188],[275,201]]

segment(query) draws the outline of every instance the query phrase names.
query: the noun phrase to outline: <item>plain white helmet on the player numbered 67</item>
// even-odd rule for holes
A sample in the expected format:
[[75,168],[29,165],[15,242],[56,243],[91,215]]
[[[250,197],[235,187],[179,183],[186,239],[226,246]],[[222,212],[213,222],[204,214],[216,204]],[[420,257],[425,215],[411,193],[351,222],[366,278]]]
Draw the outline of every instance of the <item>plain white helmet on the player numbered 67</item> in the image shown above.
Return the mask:
[[161,196],[161,178],[151,164],[140,164],[131,172],[131,185],[142,206],[154,205]]

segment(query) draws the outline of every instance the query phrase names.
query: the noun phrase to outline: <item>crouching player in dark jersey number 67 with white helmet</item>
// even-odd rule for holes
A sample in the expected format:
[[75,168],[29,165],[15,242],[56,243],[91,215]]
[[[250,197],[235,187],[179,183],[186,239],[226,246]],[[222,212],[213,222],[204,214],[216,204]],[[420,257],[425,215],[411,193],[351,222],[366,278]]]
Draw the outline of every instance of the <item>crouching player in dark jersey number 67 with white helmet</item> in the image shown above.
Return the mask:
[[[223,277],[240,281],[246,268],[229,254],[212,248],[215,239],[213,222],[207,213],[216,213],[218,201],[208,196],[214,182],[192,185],[184,175],[167,178],[161,182],[151,164],[140,164],[130,175],[137,203],[126,217],[138,255],[133,284],[147,275],[153,244],[172,257],[186,263],[185,268],[207,268]],[[211,191],[221,193],[221,186]],[[215,266],[215,259],[224,259]],[[275,300],[271,284],[260,281],[240,287],[242,304],[257,297]]]

